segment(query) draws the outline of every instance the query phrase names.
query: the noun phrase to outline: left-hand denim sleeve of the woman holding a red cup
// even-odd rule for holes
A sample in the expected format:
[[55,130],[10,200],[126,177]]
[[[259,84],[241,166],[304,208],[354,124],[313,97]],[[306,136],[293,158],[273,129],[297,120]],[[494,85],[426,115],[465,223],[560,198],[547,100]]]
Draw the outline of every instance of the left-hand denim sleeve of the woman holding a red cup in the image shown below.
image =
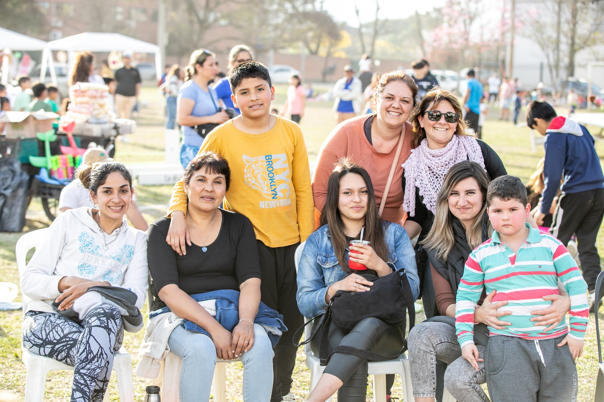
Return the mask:
[[319,243],[315,233],[311,234],[304,244],[300,264],[298,264],[298,292],[296,301],[304,317],[314,317],[324,313],[327,304],[325,293],[327,286],[323,267],[317,262]]

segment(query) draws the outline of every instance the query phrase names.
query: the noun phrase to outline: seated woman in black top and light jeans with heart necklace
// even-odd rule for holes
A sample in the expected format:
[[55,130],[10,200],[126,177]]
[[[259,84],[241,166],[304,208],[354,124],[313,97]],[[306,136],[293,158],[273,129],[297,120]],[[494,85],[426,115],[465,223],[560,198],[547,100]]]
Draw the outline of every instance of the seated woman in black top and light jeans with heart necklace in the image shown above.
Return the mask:
[[[242,214],[219,209],[231,181],[231,170],[222,156],[215,152],[196,156],[182,181],[190,234],[187,244],[181,244],[184,252],[176,253],[165,242],[171,222],[167,217],[149,226],[148,249],[152,289],[158,296],[151,310],[168,307],[195,325],[178,325],[167,341],[170,351],[182,358],[180,400],[209,400],[216,358],[240,357],[243,401],[268,402],[273,351],[271,339],[259,324],[259,317],[269,309],[260,303],[260,262],[252,223]],[[207,304],[200,304],[226,294],[233,295],[229,301],[238,313],[232,325],[223,320],[228,314],[217,311],[217,302],[214,314],[206,310]]]

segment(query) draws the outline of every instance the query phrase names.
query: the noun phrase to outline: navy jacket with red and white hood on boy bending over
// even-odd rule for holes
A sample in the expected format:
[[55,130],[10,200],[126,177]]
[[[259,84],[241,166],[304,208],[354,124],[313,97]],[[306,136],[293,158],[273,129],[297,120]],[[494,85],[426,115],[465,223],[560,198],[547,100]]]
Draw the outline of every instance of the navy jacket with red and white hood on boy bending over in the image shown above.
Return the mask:
[[[562,193],[572,194],[604,188],[604,174],[590,132],[576,121],[557,116],[545,134],[545,163],[541,212],[550,212],[551,202],[562,182]],[[564,177],[563,177],[564,175]]]

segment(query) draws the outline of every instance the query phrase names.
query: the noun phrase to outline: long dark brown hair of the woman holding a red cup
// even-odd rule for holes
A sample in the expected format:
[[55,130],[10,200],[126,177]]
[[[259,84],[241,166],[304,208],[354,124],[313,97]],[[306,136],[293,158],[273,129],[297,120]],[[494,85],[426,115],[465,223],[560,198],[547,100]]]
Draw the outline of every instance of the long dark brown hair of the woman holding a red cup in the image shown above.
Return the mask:
[[361,176],[367,186],[367,214],[365,214],[363,239],[371,242],[371,247],[373,247],[379,258],[382,258],[385,262],[390,261],[390,252],[384,240],[383,221],[377,211],[376,197],[369,173],[361,165],[354,162],[352,158],[346,156],[336,162],[335,168],[333,168],[332,174],[329,176],[329,181],[327,182],[327,200],[323,206],[323,212],[321,212],[320,226],[327,225],[329,227],[333,252],[338,257],[339,266],[342,270],[349,273],[352,271],[345,258],[345,249],[348,240],[344,232],[344,222],[342,222],[342,217],[339,214],[338,203],[340,179],[351,173]]

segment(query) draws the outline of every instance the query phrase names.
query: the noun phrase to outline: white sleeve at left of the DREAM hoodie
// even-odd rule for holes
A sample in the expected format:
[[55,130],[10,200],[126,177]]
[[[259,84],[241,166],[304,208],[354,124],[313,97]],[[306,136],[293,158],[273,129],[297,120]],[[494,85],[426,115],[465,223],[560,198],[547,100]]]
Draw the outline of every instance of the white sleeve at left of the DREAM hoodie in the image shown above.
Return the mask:
[[36,247],[33,257],[21,276],[21,291],[33,300],[59,297],[62,275],[54,275],[57,261],[65,246],[69,211],[60,214],[48,228],[47,237]]

